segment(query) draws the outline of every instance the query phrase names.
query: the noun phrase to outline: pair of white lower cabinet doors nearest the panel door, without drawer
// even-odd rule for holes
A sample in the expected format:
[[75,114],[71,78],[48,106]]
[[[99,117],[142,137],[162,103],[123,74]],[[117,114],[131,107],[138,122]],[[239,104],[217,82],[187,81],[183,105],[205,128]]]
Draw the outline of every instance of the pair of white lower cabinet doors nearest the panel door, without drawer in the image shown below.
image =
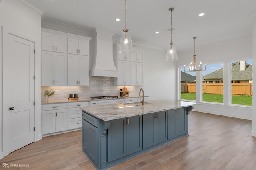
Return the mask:
[[42,135],[67,130],[67,109],[42,111]]

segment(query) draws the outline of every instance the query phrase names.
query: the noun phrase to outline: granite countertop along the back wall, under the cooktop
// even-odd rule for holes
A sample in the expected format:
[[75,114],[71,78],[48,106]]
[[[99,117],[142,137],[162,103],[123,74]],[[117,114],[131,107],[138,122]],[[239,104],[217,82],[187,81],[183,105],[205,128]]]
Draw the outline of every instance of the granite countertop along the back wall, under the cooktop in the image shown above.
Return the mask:
[[[144,96],[149,97],[149,96]],[[70,103],[70,102],[90,102],[90,101],[97,101],[97,100],[115,100],[115,99],[127,99],[127,98],[142,98],[142,96],[129,96],[129,97],[118,97],[118,98],[106,98],[106,99],[82,99],[79,98],[78,100],[53,100],[49,102],[41,102],[41,104],[57,104],[57,103]]]

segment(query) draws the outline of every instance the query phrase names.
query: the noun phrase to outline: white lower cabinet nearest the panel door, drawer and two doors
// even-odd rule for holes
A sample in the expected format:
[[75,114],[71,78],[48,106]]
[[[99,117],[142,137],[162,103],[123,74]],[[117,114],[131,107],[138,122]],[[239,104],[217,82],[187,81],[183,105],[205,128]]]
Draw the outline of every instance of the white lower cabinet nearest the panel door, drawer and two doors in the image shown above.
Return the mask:
[[42,106],[42,135],[67,130],[67,105]]

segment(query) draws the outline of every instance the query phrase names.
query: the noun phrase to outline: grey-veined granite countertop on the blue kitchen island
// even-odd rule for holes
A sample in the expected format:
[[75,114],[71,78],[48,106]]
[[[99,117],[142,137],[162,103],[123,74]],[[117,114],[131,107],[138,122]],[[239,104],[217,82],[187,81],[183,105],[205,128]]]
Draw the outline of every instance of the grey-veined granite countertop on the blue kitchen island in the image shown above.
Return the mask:
[[[80,107],[82,111],[98,117],[103,121],[110,121],[136,115],[143,115],[148,113],[155,113],[159,111],[178,109],[182,107],[194,106],[194,102],[184,102],[176,100],[148,100],[145,105],[142,103],[127,103],[127,104],[109,104],[103,106],[87,106]],[[132,107],[126,107],[132,106]],[[124,108],[120,108],[124,107]]]

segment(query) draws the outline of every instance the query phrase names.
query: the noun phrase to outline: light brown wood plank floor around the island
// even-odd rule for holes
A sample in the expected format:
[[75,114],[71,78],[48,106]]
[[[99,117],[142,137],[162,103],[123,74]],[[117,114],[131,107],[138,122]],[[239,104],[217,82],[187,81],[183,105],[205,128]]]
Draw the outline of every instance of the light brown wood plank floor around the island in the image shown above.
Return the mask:
[[[191,111],[189,136],[117,164],[108,170],[256,170],[252,121]],[[22,169],[94,170],[82,152],[81,131],[31,143],[0,160]],[[8,168],[21,169],[21,168]]]

